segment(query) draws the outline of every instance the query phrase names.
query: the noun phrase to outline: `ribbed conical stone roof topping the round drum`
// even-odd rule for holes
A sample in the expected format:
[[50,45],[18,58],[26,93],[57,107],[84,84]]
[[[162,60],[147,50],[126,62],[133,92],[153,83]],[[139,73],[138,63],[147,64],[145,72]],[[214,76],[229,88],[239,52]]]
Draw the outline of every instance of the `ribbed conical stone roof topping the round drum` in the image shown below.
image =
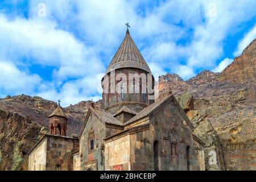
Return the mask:
[[151,73],[150,68],[141,55],[141,52],[139,52],[128,30],[126,31],[126,36],[119,46],[118,51],[110,62],[106,73],[109,73],[111,69],[118,68],[139,68]]

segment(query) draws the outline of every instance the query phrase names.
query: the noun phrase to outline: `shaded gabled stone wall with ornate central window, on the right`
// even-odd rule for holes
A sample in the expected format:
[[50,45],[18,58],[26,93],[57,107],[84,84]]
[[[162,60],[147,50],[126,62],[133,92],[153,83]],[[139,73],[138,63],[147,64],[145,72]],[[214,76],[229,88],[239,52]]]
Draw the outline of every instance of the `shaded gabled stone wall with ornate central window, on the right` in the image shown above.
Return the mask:
[[160,170],[200,170],[192,129],[182,112],[171,101],[150,118],[151,135],[159,143]]

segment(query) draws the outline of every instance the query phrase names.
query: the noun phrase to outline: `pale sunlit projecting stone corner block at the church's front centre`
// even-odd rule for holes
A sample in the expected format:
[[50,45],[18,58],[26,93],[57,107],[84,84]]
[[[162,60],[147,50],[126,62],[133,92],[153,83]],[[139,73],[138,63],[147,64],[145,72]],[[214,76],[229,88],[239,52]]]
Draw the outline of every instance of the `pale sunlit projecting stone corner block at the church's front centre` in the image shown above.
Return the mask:
[[106,170],[153,170],[149,125],[141,125],[106,139]]

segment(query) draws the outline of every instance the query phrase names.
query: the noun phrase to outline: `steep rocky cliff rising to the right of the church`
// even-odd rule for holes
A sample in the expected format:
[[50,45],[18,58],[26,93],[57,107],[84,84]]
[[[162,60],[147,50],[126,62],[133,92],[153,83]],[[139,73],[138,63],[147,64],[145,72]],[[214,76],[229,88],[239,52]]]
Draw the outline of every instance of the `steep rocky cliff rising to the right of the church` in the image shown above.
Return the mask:
[[[161,76],[159,93],[172,92],[205,143],[207,170],[256,166],[256,39],[221,73],[203,71],[187,81]],[[217,163],[209,164],[210,151]],[[212,154],[212,153],[211,153]]]

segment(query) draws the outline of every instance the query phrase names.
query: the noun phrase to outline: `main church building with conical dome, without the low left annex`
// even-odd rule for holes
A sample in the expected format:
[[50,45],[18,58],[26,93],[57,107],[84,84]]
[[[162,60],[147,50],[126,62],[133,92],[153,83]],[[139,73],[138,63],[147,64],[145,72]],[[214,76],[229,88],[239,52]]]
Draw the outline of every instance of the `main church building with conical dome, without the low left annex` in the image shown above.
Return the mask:
[[[81,170],[205,170],[204,143],[192,134],[192,123],[175,97],[169,93],[155,102],[148,92],[146,97],[118,93],[112,87],[123,77],[112,85],[113,73],[125,78],[151,73],[129,31],[102,78],[104,109],[92,106],[86,115],[80,133]],[[154,77],[144,82],[154,87]],[[130,85],[134,83],[127,82],[125,89]]]

